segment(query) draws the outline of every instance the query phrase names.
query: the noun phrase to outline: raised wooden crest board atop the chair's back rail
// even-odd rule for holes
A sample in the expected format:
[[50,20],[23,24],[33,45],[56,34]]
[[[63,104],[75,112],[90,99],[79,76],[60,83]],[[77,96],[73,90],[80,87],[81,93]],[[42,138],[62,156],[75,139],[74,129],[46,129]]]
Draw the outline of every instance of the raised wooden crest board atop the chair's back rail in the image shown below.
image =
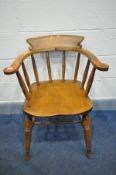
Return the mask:
[[84,40],[83,36],[75,35],[50,35],[27,39],[32,50],[41,48],[75,47]]

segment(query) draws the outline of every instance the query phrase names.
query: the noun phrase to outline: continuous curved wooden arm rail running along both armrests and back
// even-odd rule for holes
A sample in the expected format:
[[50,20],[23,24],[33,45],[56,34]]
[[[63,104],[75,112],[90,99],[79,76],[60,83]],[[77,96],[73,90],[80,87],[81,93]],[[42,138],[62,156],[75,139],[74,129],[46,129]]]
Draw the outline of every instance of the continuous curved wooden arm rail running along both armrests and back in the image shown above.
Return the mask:
[[[54,48],[49,48],[47,50],[51,50],[54,51]],[[58,47],[57,49],[55,48],[55,50],[59,50],[59,51],[74,51],[74,52],[78,52],[81,53],[82,55],[86,56],[88,58],[88,60],[93,64],[93,66],[101,71],[107,71],[109,69],[109,66],[105,63],[102,63],[94,54],[92,54],[90,51],[84,49],[84,48],[80,48],[80,47]],[[40,53],[42,51],[46,51],[46,49],[38,49],[38,50],[28,50],[24,53],[22,53],[21,55],[19,55],[15,61],[11,64],[11,66],[7,67],[4,69],[4,73],[5,74],[13,74],[16,73],[16,71],[18,70],[18,68],[21,66],[22,62],[24,61],[24,59],[26,59],[27,57],[33,55],[33,54],[37,54]]]

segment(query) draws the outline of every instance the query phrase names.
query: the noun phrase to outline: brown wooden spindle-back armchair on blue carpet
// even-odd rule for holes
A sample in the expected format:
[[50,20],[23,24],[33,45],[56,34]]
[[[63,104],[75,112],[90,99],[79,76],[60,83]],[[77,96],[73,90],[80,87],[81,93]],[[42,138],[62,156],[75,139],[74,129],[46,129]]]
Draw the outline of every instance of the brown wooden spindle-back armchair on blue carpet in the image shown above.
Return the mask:
[[[19,55],[10,67],[4,69],[7,75],[16,73],[19,84],[25,95],[23,111],[28,114],[28,120],[24,121],[25,127],[25,149],[26,160],[30,158],[31,130],[36,124],[61,124],[61,123],[81,123],[84,128],[86,156],[90,158],[91,154],[91,129],[89,113],[93,108],[93,103],[88,97],[91,89],[95,71],[107,71],[108,65],[102,63],[96,56],[88,50],[82,48],[81,42],[83,36],[72,35],[51,35],[27,39],[30,45],[29,50]],[[52,79],[51,58],[52,52],[62,53],[62,78],[60,80]],[[65,79],[66,53],[74,52],[76,54],[76,65],[74,78]],[[46,65],[48,69],[48,81],[39,81],[38,66],[36,64],[39,58],[37,54],[45,53]],[[82,80],[78,79],[80,69],[81,55],[87,60],[83,72]],[[29,71],[25,64],[26,60],[31,59],[35,82],[30,82]],[[91,71],[90,66],[92,66]],[[22,67],[24,78],[21,74]],[[89,73],[90,72],[90,73]],[[38,121],[37,118],[59,117],[69,115],[78,115],[79,120],[64,121]]]

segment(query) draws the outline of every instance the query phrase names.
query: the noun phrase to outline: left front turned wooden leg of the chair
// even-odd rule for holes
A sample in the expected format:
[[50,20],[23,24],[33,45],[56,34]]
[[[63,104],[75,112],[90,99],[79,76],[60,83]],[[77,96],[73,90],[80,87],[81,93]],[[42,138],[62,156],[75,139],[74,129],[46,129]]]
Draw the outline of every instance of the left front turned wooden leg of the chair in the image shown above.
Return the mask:
[[25,127],[25,159],[30,159],[30,144],[31,144],[31,131],[33,122],[31,120],[24,121]]

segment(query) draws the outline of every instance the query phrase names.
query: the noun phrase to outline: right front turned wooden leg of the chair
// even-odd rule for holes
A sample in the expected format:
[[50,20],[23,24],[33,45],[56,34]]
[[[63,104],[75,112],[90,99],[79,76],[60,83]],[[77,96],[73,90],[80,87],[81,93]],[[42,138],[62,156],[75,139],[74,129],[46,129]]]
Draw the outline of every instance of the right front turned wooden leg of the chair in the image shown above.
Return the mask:
[[91,128],[90,128],[90,116],[83,115],[82,125],[84,128],[84,137],[86,144],[86,156],[90,158],[91,155]]

